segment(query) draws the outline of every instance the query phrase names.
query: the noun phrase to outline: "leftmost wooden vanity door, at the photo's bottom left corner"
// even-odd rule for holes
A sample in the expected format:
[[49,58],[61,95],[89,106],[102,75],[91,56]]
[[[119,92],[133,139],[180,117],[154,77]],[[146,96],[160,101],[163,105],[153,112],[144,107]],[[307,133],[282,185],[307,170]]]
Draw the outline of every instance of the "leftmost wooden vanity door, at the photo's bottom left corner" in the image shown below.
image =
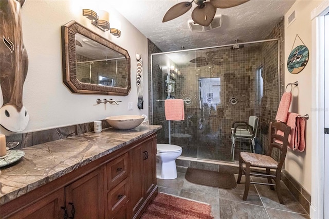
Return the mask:
[[45,198],[39,200],[31,206],[4,218],[44,218],[58,219],[64,217],[64,190],[60,189]]

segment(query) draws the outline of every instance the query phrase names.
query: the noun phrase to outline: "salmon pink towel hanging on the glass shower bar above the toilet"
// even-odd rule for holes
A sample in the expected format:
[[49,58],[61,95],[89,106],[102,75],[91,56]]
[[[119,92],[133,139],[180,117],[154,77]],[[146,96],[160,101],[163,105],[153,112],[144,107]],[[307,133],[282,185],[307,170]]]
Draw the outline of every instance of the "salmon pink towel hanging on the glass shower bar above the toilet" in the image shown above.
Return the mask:
[[167,99],[165,100],[166,120],[181,121],[184,120],[184,100]]

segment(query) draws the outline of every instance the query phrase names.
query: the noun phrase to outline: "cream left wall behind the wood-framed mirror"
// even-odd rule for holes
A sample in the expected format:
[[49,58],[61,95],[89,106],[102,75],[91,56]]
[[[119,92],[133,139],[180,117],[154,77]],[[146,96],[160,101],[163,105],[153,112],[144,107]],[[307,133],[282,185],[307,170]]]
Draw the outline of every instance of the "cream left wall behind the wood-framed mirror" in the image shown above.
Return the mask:
[[[29,68],[23,89],[23,103],[30,121],[23,132],[49,129],[104,119],[112,115],[148,115],[148,89],[144,89],[144,109],[137,108],[136,52],[143,58],[144,86],[148,87],[147,38],[113,7],[103,5],[121,21],[121,37],[115,38],[90,24],[82,16],[81,2],[26,1],[22,8],[23,40],[29,57]],[[95,3],[97,1],[89,1]],[[111,15],[110,15],[111,16]],[[62,79],[61,26],[76,20],[108,40],[125,48],[131,57],[132,89],[129,96],[72,94]],[[119,105],[96,104],[96,99],[122,101]],[[133,102],[133,111],[128,111],[128,102]],[[3,104],[2,95],[0,105]],[[0,132],[10,134],[3,127]]]

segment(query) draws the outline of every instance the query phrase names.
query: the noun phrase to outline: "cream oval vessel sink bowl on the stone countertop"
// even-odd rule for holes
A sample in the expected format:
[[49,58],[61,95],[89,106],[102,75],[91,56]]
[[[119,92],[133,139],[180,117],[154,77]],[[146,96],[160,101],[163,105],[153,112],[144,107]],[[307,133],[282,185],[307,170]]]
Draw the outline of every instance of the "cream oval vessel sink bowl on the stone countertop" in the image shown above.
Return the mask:
[[109,125],[120,130],[134,129],[140,125],[145,117],[138,115],[109,116],[106,121]]

